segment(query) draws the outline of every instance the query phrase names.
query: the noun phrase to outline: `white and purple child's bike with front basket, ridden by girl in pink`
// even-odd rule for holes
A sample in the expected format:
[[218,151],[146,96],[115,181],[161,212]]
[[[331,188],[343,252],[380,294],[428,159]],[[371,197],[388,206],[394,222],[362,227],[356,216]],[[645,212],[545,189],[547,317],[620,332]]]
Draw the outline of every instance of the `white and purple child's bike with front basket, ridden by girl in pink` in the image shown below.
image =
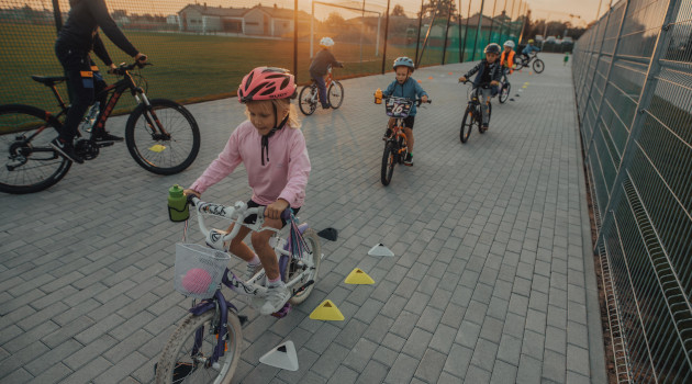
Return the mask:
[[[194,206],[200,231],[207,246],[197,244],[176,245],[174,287],[186,296],[201,300],[192,302],[189,315],[174,331],[155,365],[156,383],[230,383],[243,349],[242,324],[247,317],[227,301],[221,292],[223,285],[233,292],[252,298],[250,305],[261,307],[267,294],[265,271],[258,271],[250,280],[242,281],[226,266],[230,260],[225,244],[238,233],[241,226],[252,230],[263,228],[264,207],[248,208],[245,202],[224,206],[201,202],[197,196],[188,201]],[[245,217],[257,214],[255,224],[244,224]],[[208,229],[204,215],[235,223],[230,233]],[[315,282],[322,259],[317,234],[306,224],[298,225],[297,218],[284,211],[282,216],[290,222],[290,235],[282,239],[271,238],[279,262],[281,279],[291,290],[292,297],[282,309],[272,314],[281,318],[290,313],[292,305],[304,302]]]

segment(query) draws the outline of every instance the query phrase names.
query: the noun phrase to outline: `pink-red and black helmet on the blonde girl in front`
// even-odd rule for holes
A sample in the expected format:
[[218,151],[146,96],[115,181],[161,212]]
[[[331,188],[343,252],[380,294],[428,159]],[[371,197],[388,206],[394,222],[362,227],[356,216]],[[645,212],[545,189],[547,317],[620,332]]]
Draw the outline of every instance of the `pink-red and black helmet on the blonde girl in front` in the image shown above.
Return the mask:
[[247,74],[238,87],[238,101],[288,99],[295,95],[295,78],[288,69],[257,67]]

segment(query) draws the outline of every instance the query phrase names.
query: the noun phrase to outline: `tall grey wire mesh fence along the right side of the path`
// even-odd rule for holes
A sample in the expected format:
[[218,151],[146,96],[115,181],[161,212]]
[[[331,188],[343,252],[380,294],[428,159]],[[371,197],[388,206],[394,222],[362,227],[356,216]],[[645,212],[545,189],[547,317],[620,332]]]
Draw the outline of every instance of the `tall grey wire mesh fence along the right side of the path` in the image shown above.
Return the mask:
[[622,0],[572,75],[620,382],[692,382],[692,0]]

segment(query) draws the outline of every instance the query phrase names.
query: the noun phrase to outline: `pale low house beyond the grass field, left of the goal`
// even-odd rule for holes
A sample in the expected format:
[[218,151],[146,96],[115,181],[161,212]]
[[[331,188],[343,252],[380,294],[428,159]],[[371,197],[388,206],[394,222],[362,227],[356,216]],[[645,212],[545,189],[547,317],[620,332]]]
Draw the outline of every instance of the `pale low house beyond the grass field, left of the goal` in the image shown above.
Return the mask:
[[[255,5],[253,8],[207,7],[188,4],[178,12],[180,31],[227,32],[244,35],[281,37],[293,32],[293,10]],[[310,15],[299,11],[300,22]]]

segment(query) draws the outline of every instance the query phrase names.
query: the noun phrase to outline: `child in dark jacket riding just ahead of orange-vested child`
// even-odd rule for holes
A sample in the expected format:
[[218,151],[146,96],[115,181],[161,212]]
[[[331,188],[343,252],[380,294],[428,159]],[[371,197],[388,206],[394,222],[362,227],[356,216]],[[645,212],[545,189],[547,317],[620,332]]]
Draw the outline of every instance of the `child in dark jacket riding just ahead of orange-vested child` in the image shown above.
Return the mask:
[[498,57],[500,56],[500,45],[491,43],[485,47],[485,58],[477,64],[471,70],[459,78],[460,82],[466,82],[468,78],[476,75],[473,88],[481,97],[481,111],[483,113],[483,128],[488,129],[488,104],[490,99],[498,94],[498,84],[502,79],[502,68]]

